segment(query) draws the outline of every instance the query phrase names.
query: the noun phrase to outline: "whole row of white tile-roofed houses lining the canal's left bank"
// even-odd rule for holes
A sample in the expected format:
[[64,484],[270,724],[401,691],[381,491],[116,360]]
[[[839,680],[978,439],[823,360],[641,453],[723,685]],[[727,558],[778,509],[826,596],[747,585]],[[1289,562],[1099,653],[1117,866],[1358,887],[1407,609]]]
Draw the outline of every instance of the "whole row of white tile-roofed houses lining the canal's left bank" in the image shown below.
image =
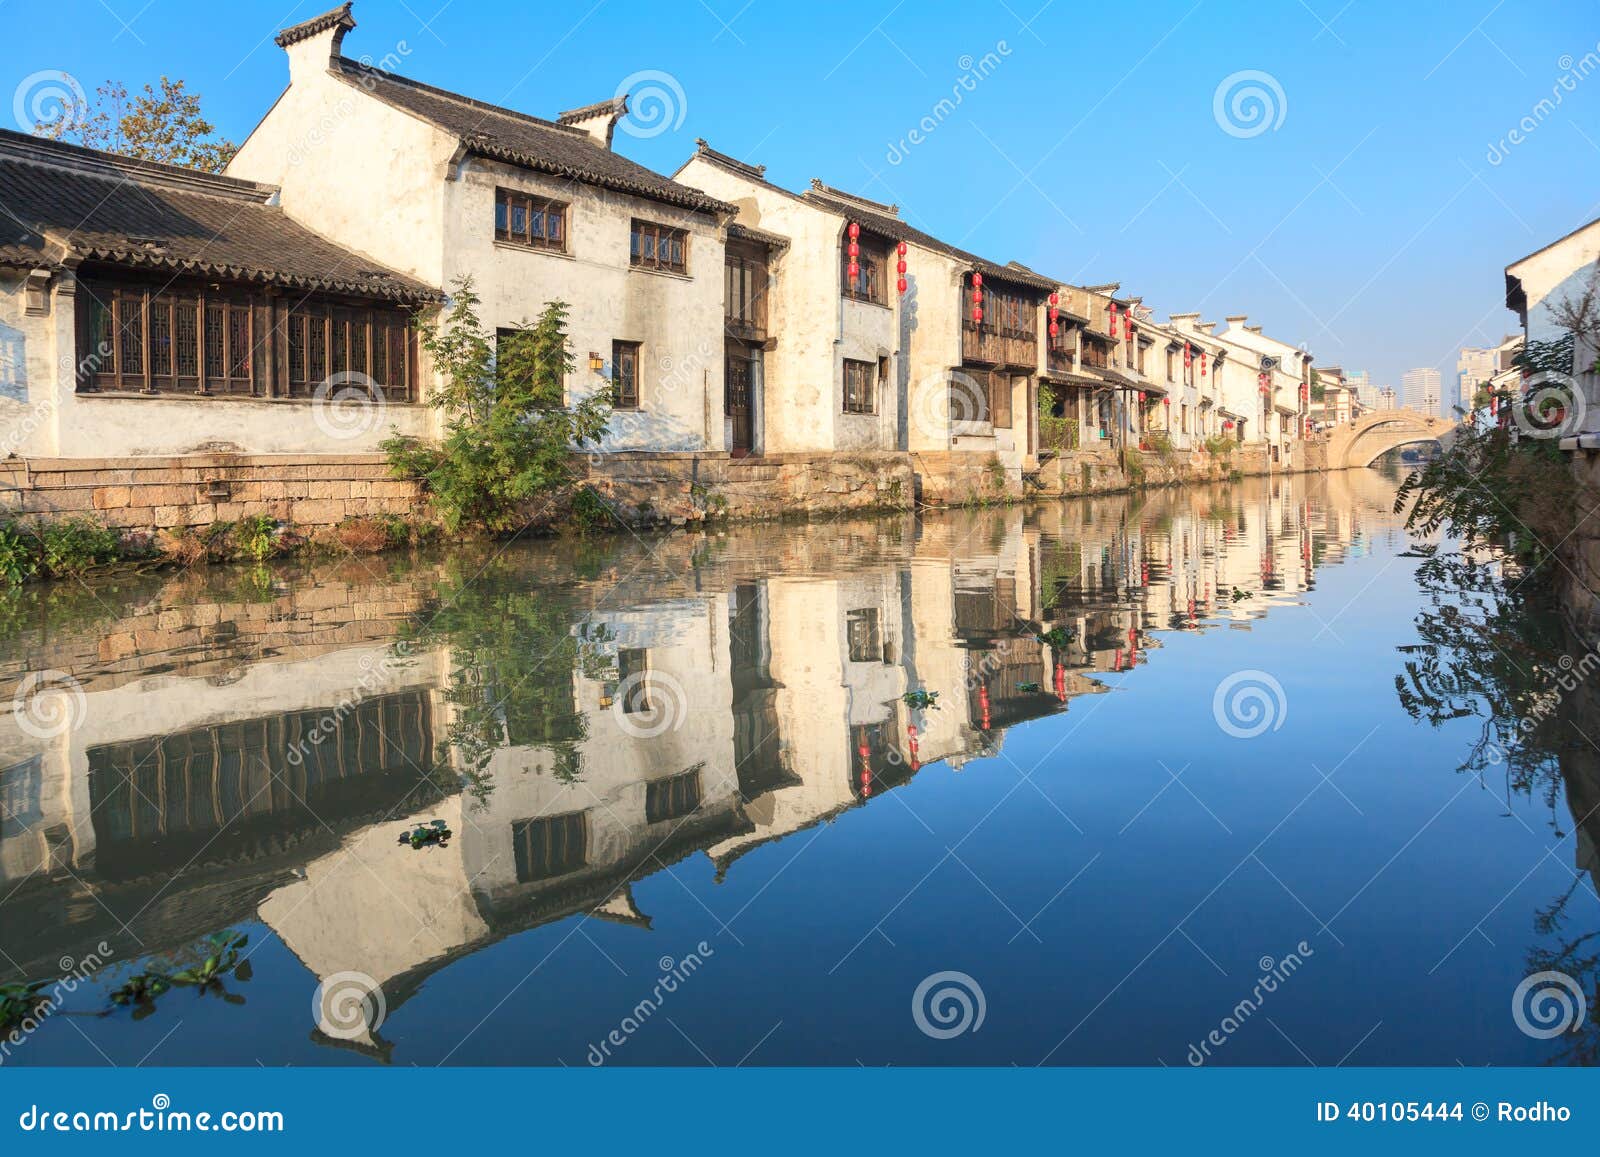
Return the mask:
[[226,174],[0,130],[8,509],[408,512],[379,443],[440,432],[413,322],[467,278],[494,333],[566,304],[565,398],[611,394],[590,477],[621,506],[659,490],[677,517],[723,483],[757,514],[1014,496],[1050,458],[1154,432],[1291,466],[1310,358],[1243,318],[1157,325],[1117,285],[782,189],[704,141],[667,178],[614,150],[626,94],[544,120],[349,59],[354,27],[344,3],[278,34],[288,86]]

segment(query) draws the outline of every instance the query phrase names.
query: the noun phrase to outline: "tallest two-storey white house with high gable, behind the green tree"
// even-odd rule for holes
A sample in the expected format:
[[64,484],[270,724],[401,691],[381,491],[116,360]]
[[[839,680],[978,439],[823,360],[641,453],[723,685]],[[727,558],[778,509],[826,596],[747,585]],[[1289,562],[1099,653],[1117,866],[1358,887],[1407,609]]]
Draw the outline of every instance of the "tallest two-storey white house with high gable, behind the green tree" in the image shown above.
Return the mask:
[[446,293],[485,328],[570,307],[568,400],[618,382],[606,450],[723,450],[723,227],[731,206],[611,149],[626,98],[541,120],[341,56],[350,5],[282,32],[290,85],[229,173],[286,213]]

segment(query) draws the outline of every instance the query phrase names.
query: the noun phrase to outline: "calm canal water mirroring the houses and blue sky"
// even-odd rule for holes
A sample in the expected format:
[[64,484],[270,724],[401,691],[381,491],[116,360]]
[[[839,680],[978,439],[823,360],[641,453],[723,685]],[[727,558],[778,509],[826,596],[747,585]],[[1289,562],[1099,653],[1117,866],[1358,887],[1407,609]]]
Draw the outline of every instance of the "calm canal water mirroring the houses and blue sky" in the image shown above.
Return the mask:
[[0,1059],[1584,1063],[1594,659],[1394,499],[30,589]]

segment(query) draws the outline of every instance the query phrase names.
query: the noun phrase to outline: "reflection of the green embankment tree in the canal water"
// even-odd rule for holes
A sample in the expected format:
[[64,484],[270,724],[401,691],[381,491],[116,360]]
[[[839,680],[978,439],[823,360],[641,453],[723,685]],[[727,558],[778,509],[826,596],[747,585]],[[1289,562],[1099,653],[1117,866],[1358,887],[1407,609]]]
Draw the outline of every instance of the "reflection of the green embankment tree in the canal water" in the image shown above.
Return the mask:
[[506,746],[549,747],[557,754],[555,775],[579,778],[578,744],[587,730],[573,691],[581,659],[573,619],[557,592],[530,589],[502,558],[480,573],[451,566],[440,581],[437,610],[410,645],[450,648],[451,719],[438,771],[454,768],[480,802],[493,791],[490,757]]

